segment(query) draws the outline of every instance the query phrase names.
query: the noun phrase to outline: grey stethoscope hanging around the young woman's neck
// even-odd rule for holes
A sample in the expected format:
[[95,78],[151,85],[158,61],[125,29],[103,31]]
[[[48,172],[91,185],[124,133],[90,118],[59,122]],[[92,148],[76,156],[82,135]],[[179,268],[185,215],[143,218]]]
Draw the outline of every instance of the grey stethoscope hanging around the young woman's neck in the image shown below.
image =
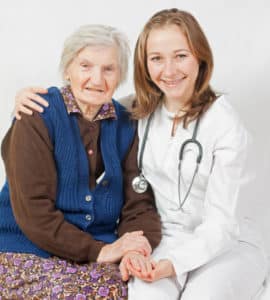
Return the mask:
[[[148,188],[148,182],[145,179],[143,173],[142,173],[142,161],[143,161],[143,155],[144,155],[144,150],[145,150],[145,145],[146,145],[146,140],[149,134],[149,128],[150,128],[150,124],[151,121],[153,119],[153,113],[150,115],[147,124],[146,124],[146,128],[145,128],[145,132],[143,135],[143,140],[142,140],[142,146],[141,146],[141,150],[139,153],[139,162],[138,162],[138,167],[139,167],[139,171],[140,174],[139,176],[136,176],[133,180],[132,180],[132,187],[133,190],[138,193],[144,193],[147,188]],[[200,142],[197,140],[197,133],[198,133],[198,128],[199,128],[199,123],[200,123],[200,117],[197,118],[194,129],[193,129],[193,134],[192,134],[192,138],[191,139],[187,139],[186,141],[184,141],[180,147],[179,150],[179,162],[178,162],[178,200],[179,200],[179,208],[177,209],[183,209],[183,206],[188,198],[188,195],[190,194],[191,188],[193,186],[193,182],[194,179],[198,173],[199,170],[199,166],[202,160],[202,156],[203,156],[203,148],[202,145],[200,144]],[[191,182],[188,186],[187,192],[184,196],[183,201],[181,200],[181,171],[182,171],[182,161],[183,161],[183,157],[184,157],[184,151],[185,148],[187,147],[187,145],[195,145],[198,148],[198,154],[197,154],[197,158],[196,158],[196,167],[195,170],[193,172],[193,176],[191,179]]]

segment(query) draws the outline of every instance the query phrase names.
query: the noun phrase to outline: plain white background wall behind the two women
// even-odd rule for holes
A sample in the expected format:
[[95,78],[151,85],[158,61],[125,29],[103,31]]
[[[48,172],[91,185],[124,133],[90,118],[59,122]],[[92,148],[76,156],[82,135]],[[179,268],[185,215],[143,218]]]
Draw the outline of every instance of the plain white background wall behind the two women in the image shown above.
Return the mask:
[[[254,138],[249,167],[256,179],[241,195],[241,211],[257,219],[270,253],[269,0],[1,0],[0,140],[18,89],[61,85],[59,56],[74,29],[87,23],[116,26],[133,48],[146,20],[171,7],[188,10],[200,21],[214,52],[212,86],[227,94]],[[131,74],[116,97],[133,91]],[[1,185],[4,178],[1,161]]]

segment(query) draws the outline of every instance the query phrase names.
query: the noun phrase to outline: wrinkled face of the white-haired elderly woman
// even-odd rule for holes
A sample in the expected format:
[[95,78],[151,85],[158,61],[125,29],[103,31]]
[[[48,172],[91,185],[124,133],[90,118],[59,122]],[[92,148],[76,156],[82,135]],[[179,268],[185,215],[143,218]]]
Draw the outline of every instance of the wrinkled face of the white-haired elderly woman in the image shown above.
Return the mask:
[[85,47],[69,64],[66,77],[82,106],[110,102],[120,79],[116,47]]

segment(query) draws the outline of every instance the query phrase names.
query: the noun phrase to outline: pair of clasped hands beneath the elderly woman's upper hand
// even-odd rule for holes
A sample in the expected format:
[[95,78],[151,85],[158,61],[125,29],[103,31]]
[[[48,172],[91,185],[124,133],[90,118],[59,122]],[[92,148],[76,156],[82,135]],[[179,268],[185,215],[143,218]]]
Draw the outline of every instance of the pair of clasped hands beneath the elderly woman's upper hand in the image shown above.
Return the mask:
[[170,260],[162,259],[155,262],[150,257],[134,251],[128,252],[123,257],[119,267],[124,281],[127,281],[130,275],[148,282],[175,276],[175,270]]

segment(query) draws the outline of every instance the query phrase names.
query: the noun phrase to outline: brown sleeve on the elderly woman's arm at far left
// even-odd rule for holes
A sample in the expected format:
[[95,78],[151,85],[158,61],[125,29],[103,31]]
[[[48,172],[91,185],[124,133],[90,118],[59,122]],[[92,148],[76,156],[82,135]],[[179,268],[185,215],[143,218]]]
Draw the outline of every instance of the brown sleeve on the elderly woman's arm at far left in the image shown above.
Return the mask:
[[77,262],[95,261],[103,242],[64,219],[55,207],[57,170],[53,146],[39,114],[15,121],[2,144],[13,213],[37,246]]

